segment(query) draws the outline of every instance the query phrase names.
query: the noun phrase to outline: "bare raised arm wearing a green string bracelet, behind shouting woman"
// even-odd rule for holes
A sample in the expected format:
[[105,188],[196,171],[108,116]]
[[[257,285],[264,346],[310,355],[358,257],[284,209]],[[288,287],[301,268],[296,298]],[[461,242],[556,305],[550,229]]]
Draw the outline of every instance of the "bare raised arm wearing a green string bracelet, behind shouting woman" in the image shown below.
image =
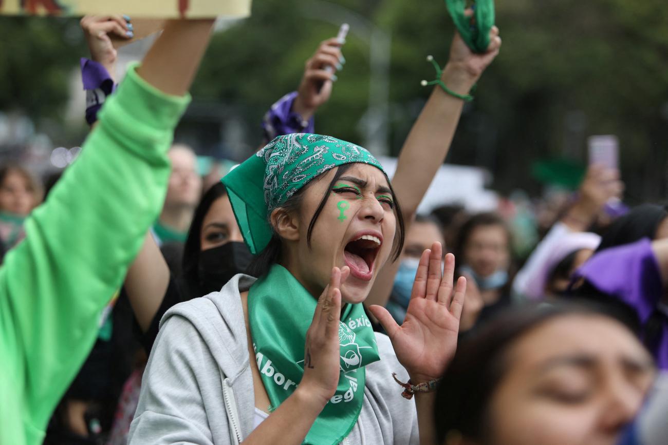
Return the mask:
[[[455,33],[450,47],[450,59],[441,77],[448,89],[460,95],[469,93],[499,52],[501,39],[498,32],[497,27],[490,31],[490,47],[484,54],[473,53],[462,41],[462,37]],[[448,155],[463,106],[462,99],[446,93],[437,85],[401,147],[392,187],[401,203],[406,231],[436,171]],[[365,301],[367,308],[373,304],[385,306],[398,268],[399,262],[393,262],[379,272]]]

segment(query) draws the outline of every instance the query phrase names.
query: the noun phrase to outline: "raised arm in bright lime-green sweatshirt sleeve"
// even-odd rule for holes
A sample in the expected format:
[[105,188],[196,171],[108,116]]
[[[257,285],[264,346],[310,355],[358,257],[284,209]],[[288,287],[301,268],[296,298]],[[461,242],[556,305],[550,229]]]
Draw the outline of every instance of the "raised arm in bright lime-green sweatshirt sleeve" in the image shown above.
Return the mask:
[[[0,442],[41,440],[98,320],[160,211],[166,156],[212,21],[174,21],[104,105],[100,123],[0,269]],[[5,390],[11,392],[5,392]]]

